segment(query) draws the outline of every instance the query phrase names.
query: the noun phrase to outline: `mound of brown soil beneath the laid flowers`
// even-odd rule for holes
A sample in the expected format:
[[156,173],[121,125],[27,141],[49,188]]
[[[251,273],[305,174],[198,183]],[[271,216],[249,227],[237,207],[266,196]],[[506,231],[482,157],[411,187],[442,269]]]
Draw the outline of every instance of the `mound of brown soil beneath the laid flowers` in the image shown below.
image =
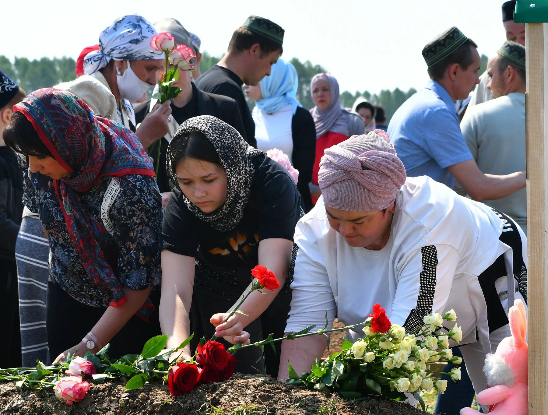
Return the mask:
[[173,397],[167,385],[151,382],[142,389],[125,390],[124,380],[90,387],[81,402],[68,406],[51,391],[24,390],[13,383],[0,384],[3,415],[145,415],[145,414],[361,414],[424,415],[399,402],[363,399],[346,401],[336,395],[296,388],[270,376],[235,375],[231,379],[202,385],[190,394]]

